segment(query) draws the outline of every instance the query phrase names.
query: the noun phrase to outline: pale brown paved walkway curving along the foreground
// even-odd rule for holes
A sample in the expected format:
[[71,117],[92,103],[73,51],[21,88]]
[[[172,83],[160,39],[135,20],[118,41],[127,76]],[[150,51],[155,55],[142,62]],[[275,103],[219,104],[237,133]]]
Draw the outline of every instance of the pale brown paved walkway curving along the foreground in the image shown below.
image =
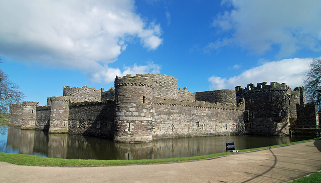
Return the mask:
[[284,182],[321,170],[321,140],[192,162],[41,167],[0,162],[0,182]]

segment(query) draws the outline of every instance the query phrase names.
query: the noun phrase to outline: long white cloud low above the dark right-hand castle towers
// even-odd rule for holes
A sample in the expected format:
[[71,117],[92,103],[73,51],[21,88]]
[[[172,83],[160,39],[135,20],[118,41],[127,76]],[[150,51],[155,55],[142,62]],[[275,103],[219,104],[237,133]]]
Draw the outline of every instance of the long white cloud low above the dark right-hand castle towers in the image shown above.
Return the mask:
[[235,89],[236,86],[245,88],[248,84],[267,82],[286,83],[292,89],[297,86],[302,86],[302,77],[309,69],[308,64],[311,58],[294,58],[284,59],[280,61],[267,62],[258,67],[246,70],[239,76],[231,78],[221,78],[212,76],[209,78],[211,89]]

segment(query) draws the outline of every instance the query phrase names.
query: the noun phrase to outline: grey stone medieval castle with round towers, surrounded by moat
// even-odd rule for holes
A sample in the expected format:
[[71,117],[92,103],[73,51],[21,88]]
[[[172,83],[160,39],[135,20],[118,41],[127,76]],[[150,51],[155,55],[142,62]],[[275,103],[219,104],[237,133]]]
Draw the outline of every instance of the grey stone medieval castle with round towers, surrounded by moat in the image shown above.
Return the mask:
[[303,87],[291,91],[285,83],[192,93],[178,89],[173,76],[149,73],[116,76],[114,84],[108,91],[66,86],[63,96],[49,97],[46,106],[32,101],[11,104],[9,125],[125,143],[207,135],[288,135],[289,123],[318,125],[317,107],[305,104]]

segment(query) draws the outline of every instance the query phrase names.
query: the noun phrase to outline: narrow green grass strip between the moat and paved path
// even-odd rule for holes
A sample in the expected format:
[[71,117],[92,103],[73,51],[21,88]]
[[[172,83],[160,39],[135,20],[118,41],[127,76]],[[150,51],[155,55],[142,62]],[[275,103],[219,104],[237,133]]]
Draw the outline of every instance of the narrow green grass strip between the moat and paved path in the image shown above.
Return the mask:
[[[315,140],[315,139],[310,139]],[[295,143],[310,141],[302,140],[298,142],[291,142],[287,144],[272,145],[268,147],[260,147],[253,149],[239,150],[239,152],[249,152],[253,150],[262,150],[266,148],[279,147],[284,145],[291,145]],[[0,161],[9,162],[17,165],[28,165],[28,166],[112,166],[112,165],[129,165],[129,164],[152,164],[152,163],[171,163],[171,162],[182,162],[182,161],[193,161],[200,159],[209,159],[219,156],[225,156],[234,154],[233,152],[222,152],[217,154],[209,154],[202,156],[193,157],[177,157],[177,158],[166,158],[166,159],[139,159],[139,160],[96,160],[96,159],[60,159],[51,157],[41,157],[28,154],[14,154],[14,153],[0,153]]]

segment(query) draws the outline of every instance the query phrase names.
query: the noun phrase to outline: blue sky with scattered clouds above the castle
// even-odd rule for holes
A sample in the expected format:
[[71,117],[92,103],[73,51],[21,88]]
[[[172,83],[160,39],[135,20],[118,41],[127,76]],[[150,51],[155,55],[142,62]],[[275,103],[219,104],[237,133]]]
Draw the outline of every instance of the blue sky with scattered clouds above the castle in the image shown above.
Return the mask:
[[1,69],[46,105],[63,87],[166,74],[191,92],[279,82],[321,56],[321,1],[0,0]]

